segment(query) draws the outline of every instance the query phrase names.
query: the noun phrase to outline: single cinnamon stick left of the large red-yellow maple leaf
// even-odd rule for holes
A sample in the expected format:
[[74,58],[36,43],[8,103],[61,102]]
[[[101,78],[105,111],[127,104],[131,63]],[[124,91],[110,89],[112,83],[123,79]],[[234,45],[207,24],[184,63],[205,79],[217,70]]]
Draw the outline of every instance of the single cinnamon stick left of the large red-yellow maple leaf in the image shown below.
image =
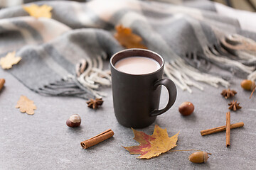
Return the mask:
[[112,137],[113,135],[114,135],[114,132],[111,129],[106,130],[105,132],[102,132],[99,135],[96,135],[95,137],[92,137],[88,140],[82,141],[81,146],[83,149],[87,149],[88,147],[92,147],[104,140],[107,140],[108,138]]

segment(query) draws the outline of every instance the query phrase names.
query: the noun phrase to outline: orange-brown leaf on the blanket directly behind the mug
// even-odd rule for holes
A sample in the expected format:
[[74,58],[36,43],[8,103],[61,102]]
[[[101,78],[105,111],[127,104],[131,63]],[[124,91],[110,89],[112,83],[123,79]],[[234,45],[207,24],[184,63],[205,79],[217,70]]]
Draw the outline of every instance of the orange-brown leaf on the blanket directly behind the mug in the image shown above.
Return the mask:
[[147,49],[146,46],[142,44],[142,38],[139,35],[132,33],[130,28],[125,28],[122,25],[119,25],[116,26],[115,29],[117,30],[117,33],[114,34],[114,38],[116,38],[124,47]]

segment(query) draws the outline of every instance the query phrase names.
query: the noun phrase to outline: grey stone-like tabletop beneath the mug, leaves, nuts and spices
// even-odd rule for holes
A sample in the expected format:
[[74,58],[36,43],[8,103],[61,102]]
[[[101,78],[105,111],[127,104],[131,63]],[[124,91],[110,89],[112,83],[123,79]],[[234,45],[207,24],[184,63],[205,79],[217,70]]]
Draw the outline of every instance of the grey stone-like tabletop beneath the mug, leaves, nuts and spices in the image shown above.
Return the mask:
[[[231,123],[243,121],[244,128],[231,130],[231,146],[225,147],[225,132],[201,137],[200,131],[225,125],[228,101],[220,95],[224,89],[204,85],[205,91],[193,88],[193,94],[178,89],[174,106],[148,128],[140,129],[151,135],[154,125],[167,128],[169,136],[178,135],[174,149],[201,149],[212,153],[206,164],[188,161],[192,152],[168,152],[153,159],[137,159],[122,146],[138,143],[132,130],[117,123],[112,108],[111,89],[102,108],[92,111],[80,98],[41,96],[0,69],[6,79],[0,92],[0,169],[255,169],[256,166],[256,94],[240,88],[241,79],[233,77],[231,88],[238,91],[235,100],[242,109],[231,113]],[[20,113],[16,102],[25,95],[36,103],[34,115]],[[168,96],[163,89],[161,107]],[[191,101],[195,112],[183,117],[178,106]],[[80,128],[68,128],[65,121],[72,114],[82,118]],[[114,137],[82,149],[80,142],[111,128]]]

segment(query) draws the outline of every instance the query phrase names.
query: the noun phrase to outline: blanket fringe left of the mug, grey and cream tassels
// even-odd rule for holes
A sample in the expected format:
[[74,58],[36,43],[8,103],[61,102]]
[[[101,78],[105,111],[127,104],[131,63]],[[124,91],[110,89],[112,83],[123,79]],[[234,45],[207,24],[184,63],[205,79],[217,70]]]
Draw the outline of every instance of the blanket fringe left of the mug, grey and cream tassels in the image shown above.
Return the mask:
[[64,79],[47,84],[38,93],[52,96],[77,96],[80,98],[102,98],[106,94],[100,86],[110,86],[110,70],[102,70],[102,57],[82,59],[75,66],[76,75],[69,74]]

